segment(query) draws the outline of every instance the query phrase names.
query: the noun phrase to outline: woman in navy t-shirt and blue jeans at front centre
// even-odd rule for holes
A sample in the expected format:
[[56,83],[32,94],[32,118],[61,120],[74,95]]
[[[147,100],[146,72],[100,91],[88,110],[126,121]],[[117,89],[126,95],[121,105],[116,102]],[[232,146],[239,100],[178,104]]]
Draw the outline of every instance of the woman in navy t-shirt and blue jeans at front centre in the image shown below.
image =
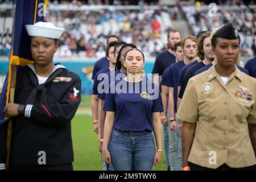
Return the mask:
[[141,78],[144,55],[139,49],[126,52],[124,65],[127,77],[112,82],[106,93],[102,158],[117,171],[151,170],[162,154],[162,98],[158,86]]

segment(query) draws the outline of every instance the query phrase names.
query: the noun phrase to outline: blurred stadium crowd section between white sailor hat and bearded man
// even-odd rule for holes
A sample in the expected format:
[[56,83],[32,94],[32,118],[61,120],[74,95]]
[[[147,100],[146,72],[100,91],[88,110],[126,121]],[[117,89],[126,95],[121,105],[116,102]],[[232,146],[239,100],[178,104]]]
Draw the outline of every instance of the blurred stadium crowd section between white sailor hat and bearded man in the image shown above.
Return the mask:
[[[75,54],[89,57],[104,55],[106,37],[117,35],[134,43],[146,55],[155,56],[166,48],[166,34],[172,28],[175,8],[158,10],[51,11],[47,21],[65,28],[60,39],[60,56]],[[73,18],[70,18],[73,17]]]

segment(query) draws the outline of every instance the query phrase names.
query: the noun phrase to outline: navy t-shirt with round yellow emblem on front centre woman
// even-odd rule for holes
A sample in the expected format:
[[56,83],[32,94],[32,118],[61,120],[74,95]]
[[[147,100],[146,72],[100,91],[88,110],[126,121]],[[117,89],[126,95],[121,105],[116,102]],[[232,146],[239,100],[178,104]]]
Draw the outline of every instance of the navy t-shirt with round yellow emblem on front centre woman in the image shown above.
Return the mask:
[[152,113],[163,111],[160,90],[146,76],[137,83],[127,82],[125,79],[112,82],[109,93],[106,93],[103,110],[115,112],[114,129],[153,131]]

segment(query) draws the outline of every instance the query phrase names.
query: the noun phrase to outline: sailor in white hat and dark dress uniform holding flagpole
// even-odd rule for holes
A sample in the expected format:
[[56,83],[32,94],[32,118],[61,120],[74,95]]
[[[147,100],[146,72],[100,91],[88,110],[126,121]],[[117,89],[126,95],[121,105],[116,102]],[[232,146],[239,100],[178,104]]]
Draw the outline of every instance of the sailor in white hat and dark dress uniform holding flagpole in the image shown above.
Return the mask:
[[[14,104],[5,107],[6,117],[13,118],[9,169],[72,170],[71,119],[81,101],[81,80],[53,64],[56,39],[64,29],[48,22],[26,28],[35,63],[17,72]],[[6,162],[7,124],[0,128],[1,167]]]

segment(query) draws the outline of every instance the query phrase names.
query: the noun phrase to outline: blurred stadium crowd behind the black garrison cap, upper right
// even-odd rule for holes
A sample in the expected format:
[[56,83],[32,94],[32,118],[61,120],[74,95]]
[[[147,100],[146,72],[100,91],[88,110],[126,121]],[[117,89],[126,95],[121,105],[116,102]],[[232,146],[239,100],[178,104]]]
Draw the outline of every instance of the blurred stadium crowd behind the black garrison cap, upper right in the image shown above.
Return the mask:
[[228,22],[233,23],[241,36],[241,55],[256,55],[256,12],[254,9],[245,5],[235,6],[232,9],[226,6],[209,12],[209,9],[201,9],[200,6],[183,6],[183,11],[195,35],[201,31],[212,31]]

